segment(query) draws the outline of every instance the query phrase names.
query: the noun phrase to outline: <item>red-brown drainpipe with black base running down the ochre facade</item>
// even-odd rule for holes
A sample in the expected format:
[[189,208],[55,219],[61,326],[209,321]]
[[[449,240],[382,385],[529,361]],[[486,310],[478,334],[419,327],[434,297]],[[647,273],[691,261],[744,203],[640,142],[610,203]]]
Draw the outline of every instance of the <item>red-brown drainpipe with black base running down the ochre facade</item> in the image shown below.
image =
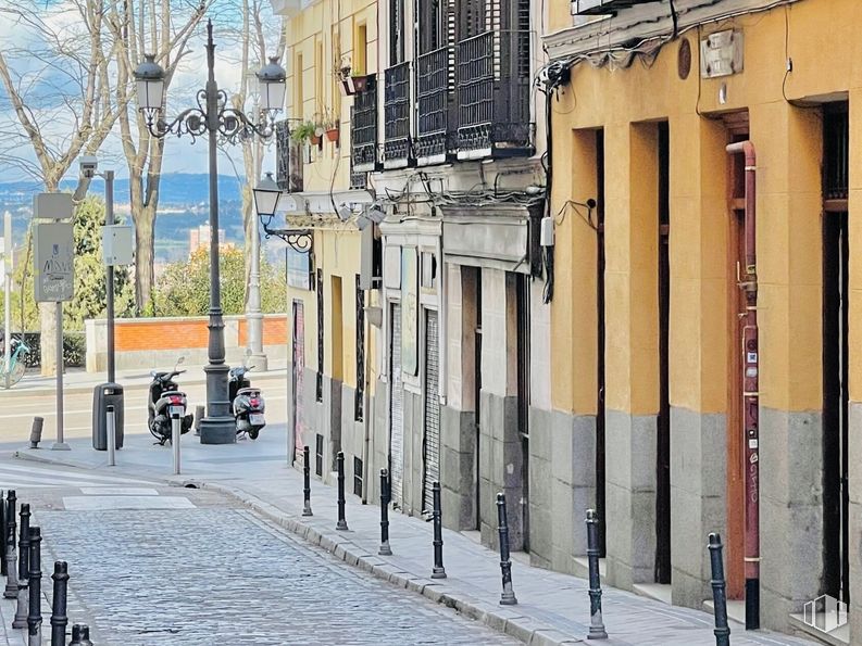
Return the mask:
[[746,156],[745,275],[739,288],[746,294],[742,327],[742,423],[746,438],[746,630],[760,628],[760,456],[758,377],[758,273],[757,273],[757,163],[754,144],[740,141],[727,147],[729,154]]

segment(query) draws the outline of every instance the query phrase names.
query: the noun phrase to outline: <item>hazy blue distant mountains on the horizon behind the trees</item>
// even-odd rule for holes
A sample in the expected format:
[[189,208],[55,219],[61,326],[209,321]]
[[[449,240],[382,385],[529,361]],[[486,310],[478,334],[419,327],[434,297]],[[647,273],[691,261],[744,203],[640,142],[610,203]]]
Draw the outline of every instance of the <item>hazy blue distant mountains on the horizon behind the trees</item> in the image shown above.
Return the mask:
[[[64,190],[73,190],[75,181],[63,181]],[[0,182],[0,213],[12,213],[13,239],[24,241],[33,215],[33,194],[41,190],[35,181]],[[236,177],[218,176],[218,226],[225,238],[238,246],[243,243],[241,187]],[[104,181],[93,179],[90,194],[104,195]],[[128,179],[114,181],[117,215],[128,216]],[[162,175],[159,216],[155,220],[155,259],[171,262],[188,253],[190,229],[207,224],[210,216],[210,178],[207,174],[173,173]]]

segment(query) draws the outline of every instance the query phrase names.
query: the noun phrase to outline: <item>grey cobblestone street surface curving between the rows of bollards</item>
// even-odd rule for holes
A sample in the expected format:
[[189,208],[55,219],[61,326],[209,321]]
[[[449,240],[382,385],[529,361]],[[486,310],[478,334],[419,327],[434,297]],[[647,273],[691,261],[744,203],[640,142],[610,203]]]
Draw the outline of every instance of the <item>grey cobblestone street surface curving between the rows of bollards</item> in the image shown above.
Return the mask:
[[76,620],[87,617],[99,644],[517,643],[336,561],[212,492],[160,491],[161,501],[182,495],[195,507],[37,506],[47,547],[70,563],[70,612],[74,605]]

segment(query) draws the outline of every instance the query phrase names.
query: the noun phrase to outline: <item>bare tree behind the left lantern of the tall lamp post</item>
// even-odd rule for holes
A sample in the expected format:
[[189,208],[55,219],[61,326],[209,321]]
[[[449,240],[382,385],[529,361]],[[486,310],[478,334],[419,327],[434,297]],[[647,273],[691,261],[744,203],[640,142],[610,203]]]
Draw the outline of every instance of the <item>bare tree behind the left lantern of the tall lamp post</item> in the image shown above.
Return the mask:
[[152,303],[154,229],[165,141],[147,128],[134,91],[134,71],[145,53],[155,56],[165,71],[165,109],[177,65],[189,53],[189,39],[211,4],[212,0],[124,0],[110,9],[111,29],[124,43],[115,49],[116,102],[123,105],[120,131],[135,223],[135,302],[139,313],[151,308]]

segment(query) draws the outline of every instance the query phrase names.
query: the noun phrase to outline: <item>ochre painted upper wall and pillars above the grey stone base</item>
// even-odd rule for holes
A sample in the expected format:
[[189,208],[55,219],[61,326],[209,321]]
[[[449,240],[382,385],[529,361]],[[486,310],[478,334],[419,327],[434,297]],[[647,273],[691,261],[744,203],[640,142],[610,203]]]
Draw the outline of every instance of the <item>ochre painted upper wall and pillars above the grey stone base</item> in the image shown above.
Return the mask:
[[[562,22],[571,24],[561,12]],[[557,20],[555,18],[555,20]],[[691,74],[677,75],[678,40],[651,66],[574,67],[572,85],[553,109],[553,212],[584,202],[595,185],[585,129],[604,128],[608,406],[652,414],[658,405],[653,189],[650,122],[666,121],[671,139],[671,401],[711,413],[726,407],[727,134],[723,113],[748,111],[758,150],[758,256],[761,404],[783,410],[822,406],[821,160],[819,109],[791,100],[838,100],[862,86],[858,2],[804,0],[790,8],[721,25],[745,34],[745,71],[700,79],[698,34],[683,37],[695,52]],[[787,50],[785,50],[787,42]],[[828,47],[824,43],[828,42]],[[785,80],[786,54],[794,71]],[[726,102],[719,99],[722,85]],[[844,93],[844,94],[841,94]],[[829,97],[826,97],[829,96]],[[851,101],[850,208],[860,201],[862,137]],[[698,114],[700,112],[700,115]],[[701,116],[702,115],[702,116]],[[862,264],[858,218],[850,218],[851,320],[860,313]],[[557,217],[557,296],[552,304],[554,408],[595,406],[595,233],[570,212]],[[588,312],[591,311],[591,312]],[[850,347],[860,346],[851,326]],[[851,350],[850,395],[862,398],[862,359]]]

